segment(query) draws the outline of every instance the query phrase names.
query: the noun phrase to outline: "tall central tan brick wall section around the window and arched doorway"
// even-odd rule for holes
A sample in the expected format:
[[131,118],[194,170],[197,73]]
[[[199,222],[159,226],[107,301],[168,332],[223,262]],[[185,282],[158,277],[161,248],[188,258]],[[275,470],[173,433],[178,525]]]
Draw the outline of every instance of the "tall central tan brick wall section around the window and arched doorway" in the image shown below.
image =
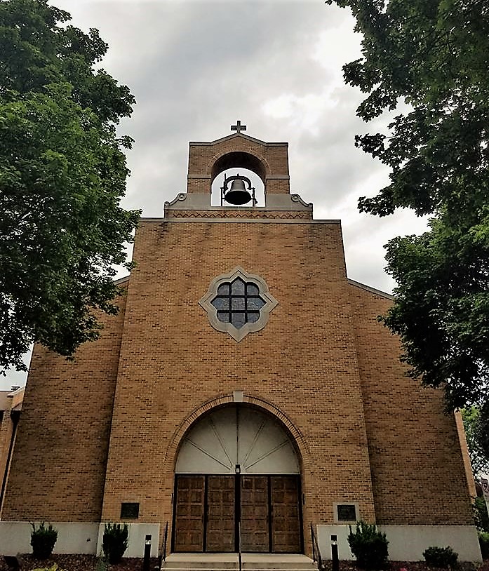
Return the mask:
[[[333,521],[356,500],[373,518],[363,406],[340,225],[142,222],[128,288],[103,518],[140,502],[140,519],[170,521],[182,422],[206,401],[243,390],[304,435],[304,521]],[[279,305],[237,343],[198,304],[240,265]]]

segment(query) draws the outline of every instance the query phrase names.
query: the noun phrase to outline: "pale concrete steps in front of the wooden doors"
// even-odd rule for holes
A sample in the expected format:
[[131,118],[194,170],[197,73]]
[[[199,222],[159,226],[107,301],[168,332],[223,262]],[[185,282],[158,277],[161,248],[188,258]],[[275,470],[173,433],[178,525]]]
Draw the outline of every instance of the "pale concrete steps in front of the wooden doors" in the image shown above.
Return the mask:
[[[243,553],[243,571],[315,571],[316,564],[305,555],[279,553]],[[163,569],[168,571],[236,571],[237,553],[171,553]]]

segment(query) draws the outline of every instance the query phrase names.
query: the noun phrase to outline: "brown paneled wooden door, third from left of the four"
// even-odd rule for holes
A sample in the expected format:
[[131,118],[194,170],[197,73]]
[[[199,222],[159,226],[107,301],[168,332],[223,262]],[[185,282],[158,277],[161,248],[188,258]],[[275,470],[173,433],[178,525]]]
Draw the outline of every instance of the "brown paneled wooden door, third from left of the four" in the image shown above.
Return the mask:
[[268,553],[268,476],[241,476],[241,550]]

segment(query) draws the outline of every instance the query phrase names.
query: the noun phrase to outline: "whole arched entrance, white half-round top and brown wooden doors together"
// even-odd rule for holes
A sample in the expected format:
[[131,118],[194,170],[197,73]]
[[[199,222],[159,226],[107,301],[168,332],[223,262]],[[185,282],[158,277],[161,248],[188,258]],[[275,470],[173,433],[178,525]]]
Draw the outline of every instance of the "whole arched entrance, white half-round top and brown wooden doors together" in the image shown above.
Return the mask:
[[173,551],[301,553],[300,468],[268,413],[234,404],[199,419],[175,465]]

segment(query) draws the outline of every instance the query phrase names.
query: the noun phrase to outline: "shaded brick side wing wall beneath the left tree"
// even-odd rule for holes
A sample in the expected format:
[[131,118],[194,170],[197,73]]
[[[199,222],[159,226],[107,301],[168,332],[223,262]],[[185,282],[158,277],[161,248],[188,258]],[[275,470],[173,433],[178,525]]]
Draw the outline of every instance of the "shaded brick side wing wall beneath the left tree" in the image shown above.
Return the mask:
[[75,361],[34,347],[2,520],[100,520],[124,306]]

